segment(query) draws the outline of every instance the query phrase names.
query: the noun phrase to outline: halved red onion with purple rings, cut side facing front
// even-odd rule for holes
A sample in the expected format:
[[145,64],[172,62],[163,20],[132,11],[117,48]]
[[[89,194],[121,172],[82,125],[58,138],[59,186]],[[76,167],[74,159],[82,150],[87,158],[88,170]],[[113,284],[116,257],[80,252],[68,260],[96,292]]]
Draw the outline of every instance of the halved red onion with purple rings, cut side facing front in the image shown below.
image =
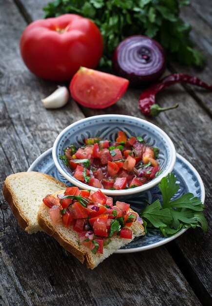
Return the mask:
[[132,85],[152,83],[166,69],[165,52],[159,43],[149,37],[130,36],[118,44],[113,67],[118,75],[127,78]]

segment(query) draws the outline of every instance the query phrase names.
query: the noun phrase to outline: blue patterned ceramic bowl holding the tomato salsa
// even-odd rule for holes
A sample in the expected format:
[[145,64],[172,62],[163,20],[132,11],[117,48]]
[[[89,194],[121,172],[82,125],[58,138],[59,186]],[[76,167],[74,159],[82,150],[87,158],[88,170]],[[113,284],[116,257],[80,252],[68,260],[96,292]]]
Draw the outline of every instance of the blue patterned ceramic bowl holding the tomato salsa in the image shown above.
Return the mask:
[[97,188],[88,186],[77,180],[72,171],[64,165],[60,154],[63,155],[63,149],[67,148],[71,143],[76,147],[81,147],[84,144],[84,138],[93,138],[95,136],[108,138],[115,141],[118,131],[125,131],[128,137],[141,135],[143,139],[151,146],[159,148],[159,166],[162,170],[161,174],[155,177],[152,181],[139,187],[124,189],[124,190],[107,190],[102,189],[102,192],[110,197],[122,198],[135,197],[155,185],[157,185],[162,177],[171,173],[176,160],[176,151],[172,140],[169,136],[154,124],[139,118],[126,115],[98,115],[79,120],[67,128],[65,128],[55,140],[53,146],[53,160],[58,171],[68,181],[81,189],[97,190]]

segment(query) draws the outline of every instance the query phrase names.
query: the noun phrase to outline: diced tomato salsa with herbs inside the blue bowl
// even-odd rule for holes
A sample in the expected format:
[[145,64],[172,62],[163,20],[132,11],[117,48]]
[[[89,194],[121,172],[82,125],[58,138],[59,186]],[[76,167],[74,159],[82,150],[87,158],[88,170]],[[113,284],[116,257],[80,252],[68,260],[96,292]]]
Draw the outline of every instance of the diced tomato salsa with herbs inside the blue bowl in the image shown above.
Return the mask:
[[159,150],[145,143],[141,136],[128,138],[119,131],[116,141],[95,137],[86,138],[84,143],[78,149],[70,145],[60,158],[75,178],[90,186],[111,190],[135,188],[160,173]]

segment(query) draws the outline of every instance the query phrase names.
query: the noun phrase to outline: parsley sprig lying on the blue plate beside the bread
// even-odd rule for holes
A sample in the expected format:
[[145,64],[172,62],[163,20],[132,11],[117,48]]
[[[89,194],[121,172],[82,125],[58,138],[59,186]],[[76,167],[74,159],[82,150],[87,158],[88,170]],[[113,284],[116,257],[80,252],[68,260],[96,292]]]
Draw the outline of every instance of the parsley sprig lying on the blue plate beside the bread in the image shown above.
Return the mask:
[[208,223],[202,211],[204,205],[198,197],[187,193],[172,200],[179,190],[176,183],[176,176],[172,173],[163,177],[159,189],[163,197],[163,203],[159,200],[148,205],[140,214],[146,227],[159,228],[162,234],[167,237],[176,234],[181,228],[201,227],[206,232]]

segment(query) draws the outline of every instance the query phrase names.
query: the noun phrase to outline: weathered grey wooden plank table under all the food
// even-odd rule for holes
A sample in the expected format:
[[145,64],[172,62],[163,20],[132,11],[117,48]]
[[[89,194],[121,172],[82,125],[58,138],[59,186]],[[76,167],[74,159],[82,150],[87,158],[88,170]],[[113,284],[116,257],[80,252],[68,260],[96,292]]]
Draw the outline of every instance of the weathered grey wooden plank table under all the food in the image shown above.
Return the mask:
[[[205,216],[212,214],[212,93],[178,85],[158,96],[161,106],[179,108],[145,118],[140,90],[130,89],[113,107],[92,110],[70,99],[63,109],[46,110],[40,99],[56,84],[38,79],[24,66],[19,38],[27,23],[41,18],[48,0],[0,0],[0,305],[212,305],[211,230],[188,230],[167,245],[115,254],[88,270],[44,233],[28,235],[2,196],[7,175],[27,171],[51,148],[62,129],[78,119],[104,113],[128,114],[153,122],[172,138],[178,153],[201,175]],[[182,16],[207,57],[201,71],[169,64],[171,72],[198,75],[212,83],[212,5],[195,0]]]

